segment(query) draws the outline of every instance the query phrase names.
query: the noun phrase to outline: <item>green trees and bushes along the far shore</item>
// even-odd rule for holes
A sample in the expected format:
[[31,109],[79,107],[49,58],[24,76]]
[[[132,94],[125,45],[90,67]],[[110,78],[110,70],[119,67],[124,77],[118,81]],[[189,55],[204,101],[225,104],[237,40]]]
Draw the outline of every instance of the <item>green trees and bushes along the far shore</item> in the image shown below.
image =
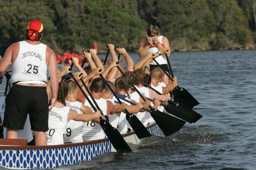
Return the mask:
[[256,0],[2,0],[0,55],[31,20],[44,24],[42,42],[56,54],[87,51],[93,41],[101,54],[108,43],[137,52],[150,25],[172,51],[256,49]]

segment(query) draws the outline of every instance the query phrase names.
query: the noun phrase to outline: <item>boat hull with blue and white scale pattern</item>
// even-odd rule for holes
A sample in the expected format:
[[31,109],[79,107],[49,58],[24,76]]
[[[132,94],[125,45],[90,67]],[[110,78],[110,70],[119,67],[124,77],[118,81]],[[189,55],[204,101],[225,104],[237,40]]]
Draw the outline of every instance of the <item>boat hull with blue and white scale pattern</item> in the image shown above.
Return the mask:
[[[154,136],[163,136],[163,132],[154,123],[147,126]],[[139,144],[144,139],[138,139],[134,132],[122,135],[127,143]],[[55,168],[64,164],[76,164],[79,161],[90,161],[94,156],[106,152],[115,152],[108,139],[62,144],[54,146],[0,146],[0,170]]]

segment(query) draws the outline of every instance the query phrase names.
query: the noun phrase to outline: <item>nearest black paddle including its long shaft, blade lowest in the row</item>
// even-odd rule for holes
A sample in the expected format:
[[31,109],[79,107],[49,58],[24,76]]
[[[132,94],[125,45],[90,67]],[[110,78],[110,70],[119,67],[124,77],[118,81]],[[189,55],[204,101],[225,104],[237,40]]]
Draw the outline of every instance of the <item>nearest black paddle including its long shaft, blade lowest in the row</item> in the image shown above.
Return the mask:
[[[72,68],[70,68],[70,71]],[[93,108],[94,111],[97,111],[93,103],[90,101],[89,97],[85,94],[84,90],[81,88],[79,85],[79,82],[77,82],[76,78],[74,75],[70,72],[70,76],[74,79],[76,82],[76,85],[79,87],[81,92],[84,94],[85,98],[87,101],[90,103],[91,107]],[[88,94],[90,94],[90,91],[88,91]],[[93,99],[93,97],[91,97]],[[95,103],[96,107],[99,109],[99,111],[102,113],[101,109],[99,108],[99,105]],[[103,113],[102,113],[103,114]],[[106,136],[108,136],[109,141],[113,145],[113,147],[116,149],[117,152],[132,152],[131,148],[128,146],[128,144],[125,142],[125,139],[123,139],[122,135],[119,133],[119,131],[112,127],[109,122],[107,122],[105,119],[102,119],[102,117],[99,118],[100,122],[99,124],[101,125],[102,129],[104,130]]]

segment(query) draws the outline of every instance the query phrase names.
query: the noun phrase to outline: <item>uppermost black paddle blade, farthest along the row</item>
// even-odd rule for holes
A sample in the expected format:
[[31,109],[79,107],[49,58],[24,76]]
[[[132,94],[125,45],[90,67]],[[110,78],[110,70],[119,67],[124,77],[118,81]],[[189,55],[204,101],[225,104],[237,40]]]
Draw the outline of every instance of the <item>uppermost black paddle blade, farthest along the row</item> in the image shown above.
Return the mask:
[[173,96],[174,98],[179,98],[183,100],[188,100],[190,102],[194,102],[195,105],[200,104],[185,88],[180,88],[179,86],[177,86],[173,90]]

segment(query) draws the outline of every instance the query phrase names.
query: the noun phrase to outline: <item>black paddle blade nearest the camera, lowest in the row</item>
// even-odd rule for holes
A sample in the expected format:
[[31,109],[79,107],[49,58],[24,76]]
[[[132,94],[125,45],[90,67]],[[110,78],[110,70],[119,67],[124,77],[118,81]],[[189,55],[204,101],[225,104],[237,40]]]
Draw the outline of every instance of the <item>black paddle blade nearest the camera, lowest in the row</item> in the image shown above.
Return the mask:
[[123,139],[119,131],[116,128],[112,127],[109,122],[105,121],[104,119],[101,119],[99,124],[104,130],[106,136],[108,136],[109,141],[111,142],[111,144],[117,152],[132,152],[131,148],[125,142],[125,139]]

